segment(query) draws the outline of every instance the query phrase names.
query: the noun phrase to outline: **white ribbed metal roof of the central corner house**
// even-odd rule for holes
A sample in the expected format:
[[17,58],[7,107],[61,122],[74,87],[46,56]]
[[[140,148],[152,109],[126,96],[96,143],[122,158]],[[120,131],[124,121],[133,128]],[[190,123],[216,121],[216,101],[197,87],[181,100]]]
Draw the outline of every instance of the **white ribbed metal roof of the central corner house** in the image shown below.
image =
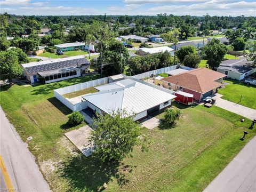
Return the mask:
[[106,113],[125,109],[128,114],[138,114],[176,97],[149,85],[128,80],[127,84],[134,82],[134,86],[87,94],[83,98]]

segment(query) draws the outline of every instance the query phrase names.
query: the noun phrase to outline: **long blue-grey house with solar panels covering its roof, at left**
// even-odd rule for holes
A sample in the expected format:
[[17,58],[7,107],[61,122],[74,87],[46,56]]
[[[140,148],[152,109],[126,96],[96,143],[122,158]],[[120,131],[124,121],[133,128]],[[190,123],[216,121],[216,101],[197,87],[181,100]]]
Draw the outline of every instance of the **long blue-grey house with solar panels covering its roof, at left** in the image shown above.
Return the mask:
[[64,79],[80,77],[82,72],[89,70],[90,62],[83,55],[51,59],[22,64],[23,75],[31,83],[52,83]]

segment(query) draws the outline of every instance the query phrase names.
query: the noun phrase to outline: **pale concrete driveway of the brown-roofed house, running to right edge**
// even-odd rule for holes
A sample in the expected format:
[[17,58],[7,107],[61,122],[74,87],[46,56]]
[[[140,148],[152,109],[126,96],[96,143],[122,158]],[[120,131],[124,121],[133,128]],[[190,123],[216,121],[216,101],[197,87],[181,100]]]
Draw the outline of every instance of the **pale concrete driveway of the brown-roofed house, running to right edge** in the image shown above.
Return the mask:
[[226,109],[228,111],[231,111],[235,114],[244,116],[246,118],[249,118],[251,120],[256,119],[256,109],[251,109],[249,107],[245,107],[242,105],[239,105],[237,103],[225,100],[225,99],[221,99],[222,95],[221,94],[216,94],[215,95],[215,99],[216,99],[216,103],[215,106],[218,106],[222,109]]

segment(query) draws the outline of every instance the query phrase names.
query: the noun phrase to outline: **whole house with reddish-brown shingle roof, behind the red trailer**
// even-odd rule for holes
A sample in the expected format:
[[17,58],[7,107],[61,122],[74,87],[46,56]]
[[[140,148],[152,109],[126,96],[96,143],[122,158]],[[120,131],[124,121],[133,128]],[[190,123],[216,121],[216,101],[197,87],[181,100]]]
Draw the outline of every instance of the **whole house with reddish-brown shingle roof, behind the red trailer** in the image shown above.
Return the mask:
[[217,92],[225,74],[206,68],[198,68],[187,72],[165,77],[163,87],[174,91],[183,91],[194,95],[194,100],[202,99]]

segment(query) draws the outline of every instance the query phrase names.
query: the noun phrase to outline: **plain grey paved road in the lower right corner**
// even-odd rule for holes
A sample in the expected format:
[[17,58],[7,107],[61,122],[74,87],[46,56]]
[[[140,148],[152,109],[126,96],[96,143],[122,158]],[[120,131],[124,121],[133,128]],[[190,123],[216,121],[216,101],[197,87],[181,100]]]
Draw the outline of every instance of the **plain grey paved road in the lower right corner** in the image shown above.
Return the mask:
[[204,192],[256,191],[256,137],[210,183]]

